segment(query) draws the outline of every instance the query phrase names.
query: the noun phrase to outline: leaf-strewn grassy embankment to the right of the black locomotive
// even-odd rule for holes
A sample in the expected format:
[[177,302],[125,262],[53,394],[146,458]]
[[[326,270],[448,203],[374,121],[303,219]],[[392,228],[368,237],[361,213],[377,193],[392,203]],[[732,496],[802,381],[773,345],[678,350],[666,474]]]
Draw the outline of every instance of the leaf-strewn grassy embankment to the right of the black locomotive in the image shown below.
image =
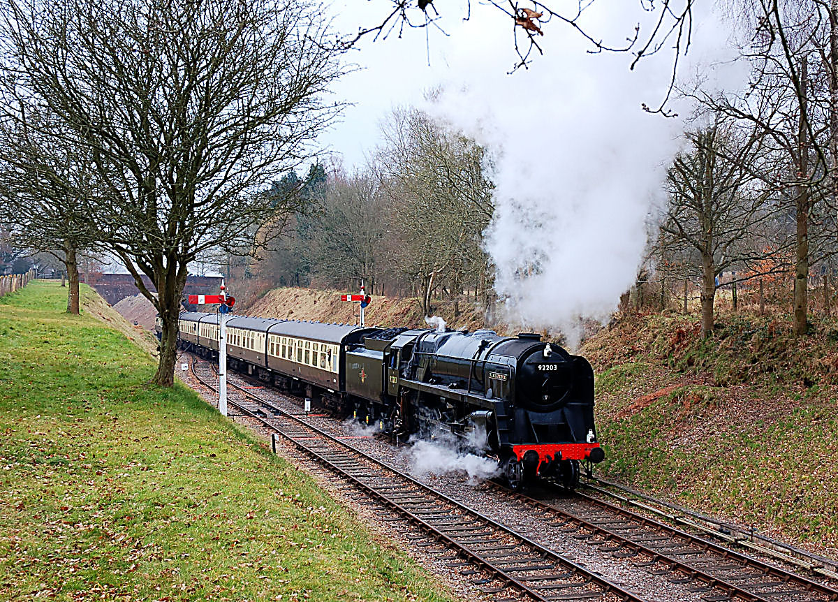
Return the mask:
[[618,319],[587,340],[602,470],[685,506],[838,555],[838,321]]

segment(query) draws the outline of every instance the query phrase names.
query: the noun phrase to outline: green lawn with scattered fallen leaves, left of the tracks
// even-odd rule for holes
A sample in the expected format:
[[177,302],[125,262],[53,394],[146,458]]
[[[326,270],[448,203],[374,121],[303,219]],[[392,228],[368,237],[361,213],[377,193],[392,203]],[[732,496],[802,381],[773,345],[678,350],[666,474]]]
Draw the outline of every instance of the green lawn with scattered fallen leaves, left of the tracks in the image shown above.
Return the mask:
[[0,298],[0,599],[449,599],[64,292]]

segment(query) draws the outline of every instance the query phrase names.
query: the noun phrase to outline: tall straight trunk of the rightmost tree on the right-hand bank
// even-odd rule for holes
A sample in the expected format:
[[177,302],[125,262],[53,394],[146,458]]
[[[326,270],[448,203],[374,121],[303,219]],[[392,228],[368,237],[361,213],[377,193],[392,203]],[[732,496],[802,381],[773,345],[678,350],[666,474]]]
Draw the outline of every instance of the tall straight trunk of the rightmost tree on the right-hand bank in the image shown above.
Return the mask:
[[[800,61],[800,81],[806,89],[808,75],[806,73],[806,56]],[[806,139],[806,99],[800,98],[800,121],[798,131],[799,179],[797,200],[797,232],[795,237],[794,262],[794,334],[805,335],[809,330],[806,320],[809,287],[809,186],[802,180],[809,175],[809,145]]]

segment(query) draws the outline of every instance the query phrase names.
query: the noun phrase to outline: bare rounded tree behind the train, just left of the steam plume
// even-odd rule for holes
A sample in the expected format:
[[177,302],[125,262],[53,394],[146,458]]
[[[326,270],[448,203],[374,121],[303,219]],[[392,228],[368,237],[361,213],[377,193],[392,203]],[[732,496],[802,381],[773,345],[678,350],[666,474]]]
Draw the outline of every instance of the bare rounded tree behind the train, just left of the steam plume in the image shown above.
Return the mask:
[[376,169],[391,198],[392,229],[410,233],[390,247],[429,312],[440,283],[456,290],[488,271],[481,246],[494,213],[487,158],[473,140],[416,110],[394,112],[385,139]]

